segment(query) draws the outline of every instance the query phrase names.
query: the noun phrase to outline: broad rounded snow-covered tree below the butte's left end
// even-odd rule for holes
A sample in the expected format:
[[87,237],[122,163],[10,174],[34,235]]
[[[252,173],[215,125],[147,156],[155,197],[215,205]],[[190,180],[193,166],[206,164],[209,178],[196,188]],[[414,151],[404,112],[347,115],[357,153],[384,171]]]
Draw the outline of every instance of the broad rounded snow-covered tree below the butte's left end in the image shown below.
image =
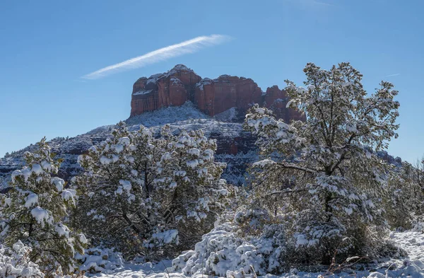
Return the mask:
[[194,245],[228,195],[215,150],[199,131],[175,136],[165,126],[155,138],[146,127],[131,133],[120,122],[79,158],[86,172],[73,180],[84,193],[76,225],[126,256],[166,256]]

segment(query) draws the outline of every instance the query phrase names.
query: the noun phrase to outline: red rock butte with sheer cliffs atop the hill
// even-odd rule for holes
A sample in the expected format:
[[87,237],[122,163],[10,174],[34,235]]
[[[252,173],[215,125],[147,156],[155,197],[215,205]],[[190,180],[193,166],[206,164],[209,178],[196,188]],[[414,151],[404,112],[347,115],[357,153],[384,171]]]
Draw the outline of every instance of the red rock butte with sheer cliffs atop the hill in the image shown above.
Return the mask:
[[278,86],[261,88],[252,79],[221,75],[202,79],[192,69],[177,64],[164,74],[141,77],[134,83],[131,96],[131,117],[168,106],[179,106],[187,100],[206,115],[215,116],[235,108],[235,120],[242,120],[254,103],[270,108],[285,122],[305,120],[299,112],[286,108],[288,96]]

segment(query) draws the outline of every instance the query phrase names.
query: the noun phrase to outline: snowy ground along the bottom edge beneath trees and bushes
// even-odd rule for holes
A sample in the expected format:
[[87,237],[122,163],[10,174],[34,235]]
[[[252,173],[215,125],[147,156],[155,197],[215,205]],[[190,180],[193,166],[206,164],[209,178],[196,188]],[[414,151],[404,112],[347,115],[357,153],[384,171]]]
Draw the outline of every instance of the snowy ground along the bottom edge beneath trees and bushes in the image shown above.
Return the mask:
[[[345,270],[338,273],[325,273],[325,272],[298,272],[298,270],[291,270],[290,273],[281,276],[267,274],[266,278],[336,278],[336,277],[369,277],[369,278],[396,278],[396,277],[412,277],[424,278],[424,233],[422,231],[404,231],[392,232],[390,237],[399,245],[399,247],[406,250],[407,257],[401,260],[386,260],[380,262],[370,270]],[[158,264],[143,264],[131,265],[127,264],[110,274],[95,274],[93,277],[117,277],[117,278],[185,278],[184,274],[171,272],[171,261],[163,261]],[[390,267],[391,270],[388,270]],[[372,269],[374,268],[374,270]],[[230,274],[230,273],[229,273]],[[206,278],[206,275],[196,275],[198,277],[192,278]],[[232,275],[230,275],[232,276]],[[246,274],[246,277],[252,277]],[[242,275],[235,274],[234,278],[242,278]]]

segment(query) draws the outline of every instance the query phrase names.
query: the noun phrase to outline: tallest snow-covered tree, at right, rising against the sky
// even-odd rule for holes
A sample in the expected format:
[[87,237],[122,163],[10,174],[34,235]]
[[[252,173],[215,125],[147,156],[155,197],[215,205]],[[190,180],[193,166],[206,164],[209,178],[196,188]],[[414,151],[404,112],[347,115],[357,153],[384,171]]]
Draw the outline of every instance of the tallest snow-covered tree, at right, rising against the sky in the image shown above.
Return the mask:
[[[286,81],[288,107],[307,120],[276,120],[254,106],[245,127],[264,160],[254,163],[254,197],[284,219],[293,260],[329,264],[334,253],[377,255],[384,221],[377,202],[386,187],[385,149],[399,125],[397,91],[382,81],[367,95],[362,74],[343,62],[327,71],[309,63],[306,88]],[[290,239],[288,239],[290,241]]]

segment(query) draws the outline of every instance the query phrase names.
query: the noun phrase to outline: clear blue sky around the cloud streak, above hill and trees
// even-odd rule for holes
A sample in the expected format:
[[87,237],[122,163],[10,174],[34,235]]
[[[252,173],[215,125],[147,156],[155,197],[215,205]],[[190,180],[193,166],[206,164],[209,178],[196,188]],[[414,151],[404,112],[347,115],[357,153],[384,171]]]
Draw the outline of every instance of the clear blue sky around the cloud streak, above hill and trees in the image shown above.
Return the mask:
[[[202,77],[250,77],[263,90],[304,80],[307,62],[349,61],[367,91],[400,91],[390,154],[424,154],[423,1],[4,1],[0,4],[0,156],[43,136],[75,136],[129,117],[141,76],[185,64]],[[201,35],[233,39],[102,79],[111,64]]]

